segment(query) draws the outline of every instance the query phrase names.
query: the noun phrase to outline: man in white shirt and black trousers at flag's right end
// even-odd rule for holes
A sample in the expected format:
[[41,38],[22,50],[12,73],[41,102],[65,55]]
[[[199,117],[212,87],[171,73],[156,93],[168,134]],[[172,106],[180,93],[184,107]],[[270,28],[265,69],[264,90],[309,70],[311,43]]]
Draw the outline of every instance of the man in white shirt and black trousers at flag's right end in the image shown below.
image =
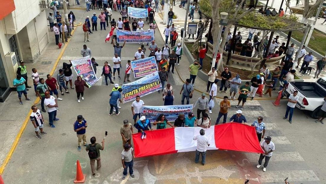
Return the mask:
[[272,138],[270,136],[267,136],[264,138],[264,141],[260,143],[261,149],[264,151],[263,154],[260,154],[259,160],[258,160],[258,165],[257,168],[261,166],[261,163],[263,159],[265,158],[265,163],[263,167],[263,171],[266,171],[266,167],[268,165],[269,159],[271,159],[273,155],[273,151],[275,150],[275,145],[274,142],[271,141]]

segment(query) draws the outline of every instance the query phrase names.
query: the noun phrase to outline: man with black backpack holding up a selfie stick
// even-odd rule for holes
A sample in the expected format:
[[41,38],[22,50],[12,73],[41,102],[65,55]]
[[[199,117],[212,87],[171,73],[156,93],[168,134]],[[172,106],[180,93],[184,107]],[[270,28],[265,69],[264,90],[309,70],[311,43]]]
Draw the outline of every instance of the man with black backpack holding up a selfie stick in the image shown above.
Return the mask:
[[102,145],[96,143],[96,138],[91,138],[91,144],[86,146],[86,151],[88,151],[88,157],[91,162],[91,170],[93,176],[96,175],[95,173],[95,160],[96,160],[96,170],[101,168],[101,157],[100,157],[100,150],[104,150],[104,139],[102,140]]

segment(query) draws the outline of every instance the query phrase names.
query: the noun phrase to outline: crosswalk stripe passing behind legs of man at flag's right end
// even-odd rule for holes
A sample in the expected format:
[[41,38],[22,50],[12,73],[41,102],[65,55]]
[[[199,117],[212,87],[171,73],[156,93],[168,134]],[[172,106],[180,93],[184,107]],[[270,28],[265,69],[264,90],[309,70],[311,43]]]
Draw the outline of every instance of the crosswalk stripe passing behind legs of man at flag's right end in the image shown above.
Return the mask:
[[[248,161],[258,162],[259,154],[245,153]],[[283,162],[283,161],[304,161],[299,152],[275,152],[273,153],[271,160],[272,162]]]

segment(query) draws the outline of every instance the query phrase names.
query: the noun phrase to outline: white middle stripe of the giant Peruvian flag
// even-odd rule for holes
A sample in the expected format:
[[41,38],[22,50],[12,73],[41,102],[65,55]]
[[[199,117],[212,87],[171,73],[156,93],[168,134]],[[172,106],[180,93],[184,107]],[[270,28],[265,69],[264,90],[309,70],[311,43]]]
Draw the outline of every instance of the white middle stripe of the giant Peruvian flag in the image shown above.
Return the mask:
[[[197,147],[197,141],[193,140],[193,137],[200,135],[199,131],[201,127],[177,127],[174,128],[174,142],[175,150],[178,152],[195,151]],[[214,126],[206,128],[205,136],[208,137],[210,146],[207,149],[217,149],[215,146]]]

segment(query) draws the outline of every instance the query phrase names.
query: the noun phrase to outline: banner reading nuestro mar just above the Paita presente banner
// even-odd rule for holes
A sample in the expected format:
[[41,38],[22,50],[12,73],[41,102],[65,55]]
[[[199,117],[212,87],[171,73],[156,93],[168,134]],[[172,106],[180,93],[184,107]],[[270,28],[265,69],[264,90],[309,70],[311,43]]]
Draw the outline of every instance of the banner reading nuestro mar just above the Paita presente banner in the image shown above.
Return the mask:
[[131,61],[131,67],[134,71],[135,78],[158,72],[156,59],[154,56]]

